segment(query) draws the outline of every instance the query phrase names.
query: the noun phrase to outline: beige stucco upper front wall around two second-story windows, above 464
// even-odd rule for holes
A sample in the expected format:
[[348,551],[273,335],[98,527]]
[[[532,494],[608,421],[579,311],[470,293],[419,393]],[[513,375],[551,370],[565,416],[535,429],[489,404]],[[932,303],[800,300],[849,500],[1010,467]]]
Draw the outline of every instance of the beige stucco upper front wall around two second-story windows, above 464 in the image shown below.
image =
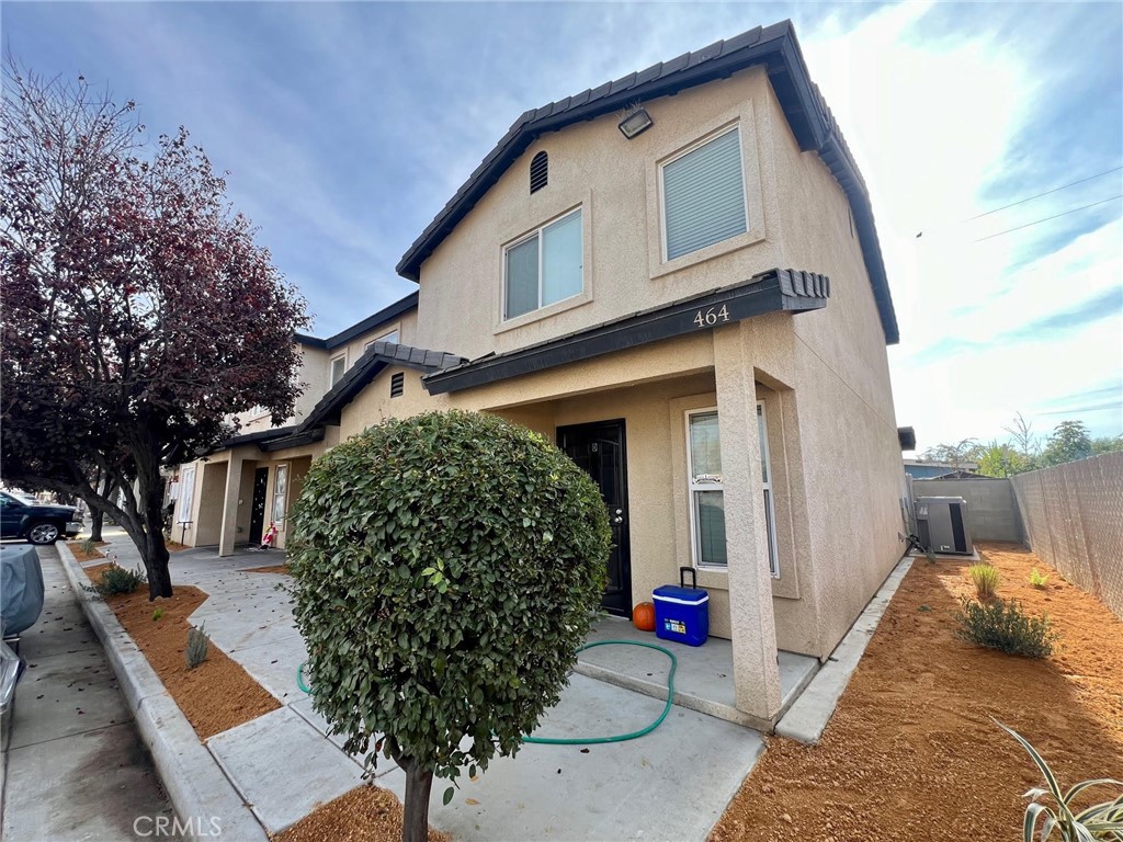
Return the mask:
[[[469,358],[503,353],[783,265],[776,194],[761,190],[775,181],[767,173],[769,97],[764,70],[751,68],[645,103],[655,125],[633,140],[611,115],[536,140],[421,267],[418,342]],[[658,163],[733,123],[741,128],[750,231],[663,264]],[[529,163],[542,149],[549,184],[530,194]],[[578,205],[586,295],[503,324],[503,245]]]

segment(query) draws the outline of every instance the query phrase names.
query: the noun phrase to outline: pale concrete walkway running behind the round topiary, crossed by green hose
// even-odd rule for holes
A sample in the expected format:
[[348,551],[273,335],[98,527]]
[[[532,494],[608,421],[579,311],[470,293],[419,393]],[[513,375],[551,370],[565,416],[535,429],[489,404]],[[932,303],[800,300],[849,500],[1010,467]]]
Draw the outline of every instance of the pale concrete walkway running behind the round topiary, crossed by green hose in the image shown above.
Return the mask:
[[[127,540],[116,541],[112,551],[125,567],[139,560]],[[216,646],[283,705],[207,742],[240,798],[272,833],[358,786],[362,777],[358,762],[339,748],[340,738],[327,735],[311,698],[296,687],[296,667],[307,650],[289,597],[276,589],[285,577],[245,571],[282,560],[280,552],[219,558],[208,549],[172,557],[174,584],[211,595],[191,622],[206,620]],[[648,695],[575,675],[539,734],[624,733],[650,723],[661,710],[663,702]],[[524,745],[517,758],[493,761],[477,781],[462,782],[448,806],[441,804],[446,785],[437,781],[429,818],[456,840],[702,842],[763,749],[756,731],[676,706],[659,729],[639,740]],[[375,782],[404,796],[404,775],[393,763],[380,761]],[[190,805],[177,806],[192,812]]]

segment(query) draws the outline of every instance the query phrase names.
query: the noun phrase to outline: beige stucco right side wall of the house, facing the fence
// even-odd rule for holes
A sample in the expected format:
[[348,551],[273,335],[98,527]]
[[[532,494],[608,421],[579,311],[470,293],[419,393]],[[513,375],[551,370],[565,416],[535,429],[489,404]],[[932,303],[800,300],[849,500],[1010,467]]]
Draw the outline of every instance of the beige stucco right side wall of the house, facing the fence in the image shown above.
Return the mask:
[[[841,187],[818,155],[800,152],[773,98],[785,265],[831,278],[823,310],[792,320],[801,468],[815,596],[777,611],[777,637],[818,626],[825,657],[904,551],[903,466],[885,335]],[[764,349],[761,349],[763,351]]]

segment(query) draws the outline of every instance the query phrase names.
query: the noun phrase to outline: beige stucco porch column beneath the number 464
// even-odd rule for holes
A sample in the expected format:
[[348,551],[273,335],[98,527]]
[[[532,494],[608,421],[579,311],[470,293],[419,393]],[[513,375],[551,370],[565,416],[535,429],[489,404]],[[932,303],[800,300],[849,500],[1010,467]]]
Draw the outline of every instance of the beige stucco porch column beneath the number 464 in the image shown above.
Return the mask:
[[725,503],[729,613],[737,708],[773,724],[779,712],[779,667],[772,574],[765,534],[757,395],[745,323],[713,333],[718,424]]

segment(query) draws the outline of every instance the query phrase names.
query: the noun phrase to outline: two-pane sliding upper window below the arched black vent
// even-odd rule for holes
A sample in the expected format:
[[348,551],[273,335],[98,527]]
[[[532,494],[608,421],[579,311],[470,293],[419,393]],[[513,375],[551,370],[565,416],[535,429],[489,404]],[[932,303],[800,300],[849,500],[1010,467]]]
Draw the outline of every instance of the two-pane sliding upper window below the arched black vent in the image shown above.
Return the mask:
[[584,289],[581,209],[504,249],[503,318],[529,313]]

